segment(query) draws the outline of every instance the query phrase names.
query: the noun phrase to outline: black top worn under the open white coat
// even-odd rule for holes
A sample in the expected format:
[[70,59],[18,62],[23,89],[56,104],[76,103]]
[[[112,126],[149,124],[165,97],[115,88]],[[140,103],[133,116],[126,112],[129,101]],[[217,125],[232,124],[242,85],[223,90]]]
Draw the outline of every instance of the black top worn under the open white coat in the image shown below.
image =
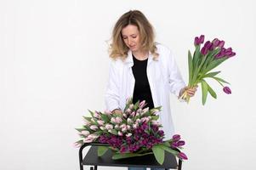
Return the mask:
[[133,59],[134,66],[132,69],[135,78],[133,103],[135,104],[138,100],[145,100],[145,103],[147,103],[146,106],[152,109],[154,108],[154,103],[151,95],[151,87],[146,75],[146,65],[148,59],[138,60],[134,57],[134,55]]

